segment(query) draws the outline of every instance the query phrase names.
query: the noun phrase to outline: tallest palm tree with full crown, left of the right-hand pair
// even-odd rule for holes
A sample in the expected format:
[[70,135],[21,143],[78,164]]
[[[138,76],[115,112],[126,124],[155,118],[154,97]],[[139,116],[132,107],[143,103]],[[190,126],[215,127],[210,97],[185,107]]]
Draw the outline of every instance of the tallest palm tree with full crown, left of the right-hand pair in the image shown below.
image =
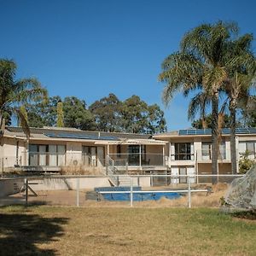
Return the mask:
[[[218,93],[227,78],[227,44],[236,34],[233,23],[203,24],[185,34],[179,52],[162,64],[159,79],[166,83],[163,101],[168,104],[177,90],[203,90],[212,99],[212,174],[218,174]],[[217,177],[212,177],[217,183]]]

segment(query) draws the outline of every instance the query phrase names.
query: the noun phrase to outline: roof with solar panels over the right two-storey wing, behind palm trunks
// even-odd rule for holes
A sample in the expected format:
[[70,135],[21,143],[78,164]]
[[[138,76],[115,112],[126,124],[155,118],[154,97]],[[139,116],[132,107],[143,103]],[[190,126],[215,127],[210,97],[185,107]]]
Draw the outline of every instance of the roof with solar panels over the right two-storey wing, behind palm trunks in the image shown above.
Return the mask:
[[[221,131],[222,135],[230,135],[230,128],[224,128]],[[236,128],[236,134],[256,134],[256,128]],[[178,136],[210,136],[212,129],[186,129],[178,131],[164,132],[155,135],[154,137],[178,137]]]

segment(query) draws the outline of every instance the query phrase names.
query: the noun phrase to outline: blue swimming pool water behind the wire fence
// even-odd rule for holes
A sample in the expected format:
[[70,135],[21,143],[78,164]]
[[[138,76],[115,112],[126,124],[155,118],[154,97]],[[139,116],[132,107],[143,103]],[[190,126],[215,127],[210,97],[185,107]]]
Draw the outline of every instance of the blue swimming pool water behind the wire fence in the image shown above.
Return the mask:
[[[130,187],[113,187],[113,188],[96,188],[96,192],[99,191],[130,191]],[[141,187],[134,187],[133,191],[142,191]],[[119,194],[102,194],[103,198],[108,201],[130,201],[129,193],[119,193]],[[148,193],[133,193],[133,201],[150,201],[150,200],[160,200],[162,197],[166,197],[167,199],[177,199],[181,195],[179,193],[159,193],[159,192],[148,192]]]

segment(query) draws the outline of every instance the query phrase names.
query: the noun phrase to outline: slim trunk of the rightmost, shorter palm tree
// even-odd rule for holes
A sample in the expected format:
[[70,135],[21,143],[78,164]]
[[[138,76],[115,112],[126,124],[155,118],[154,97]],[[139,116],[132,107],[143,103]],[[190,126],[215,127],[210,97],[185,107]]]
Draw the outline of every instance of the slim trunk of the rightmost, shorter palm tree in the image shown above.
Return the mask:
[[231,154],[231,170],[232,174],[237,174],[236,165],[236,107],[230,102],[230,154]]

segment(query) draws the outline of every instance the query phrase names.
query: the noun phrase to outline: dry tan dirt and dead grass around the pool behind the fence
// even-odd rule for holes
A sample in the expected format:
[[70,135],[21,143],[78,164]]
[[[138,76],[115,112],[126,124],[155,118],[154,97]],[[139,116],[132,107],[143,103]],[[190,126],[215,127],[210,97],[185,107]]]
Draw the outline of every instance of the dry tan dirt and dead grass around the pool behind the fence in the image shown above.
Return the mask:
[[[193,189],[206,189],[207,185],[196,185]],[[219,207],[220,198],[224,196],[227,184],[219,183],[212,186],[212,193],[200,192],[192,193],[191,206],[192,207]],[[151,188],[152,189],[152,188]],[[158,188],[160,189],[160,188]],[[167,188],[165,188],[167,189]],[[170,188],[169,188],[170,189]],[[130,207],[130,201],[93,201],[86,200],[86,193],[89,190],[79,191],[79,206],[80,207]],[[91,190],[90,190],[91,191]],[[77,191],[76,190],[46,190],[37,191],[38,196],[29,195],[28,202],[32,204],[44,204],[52,206],[76,206],[77,205]],[[23,194],[9,196],[24,201]],[[158,201],[134,201],[134,207],[188,207],[188,196],[183,195],[179,199],[169,200],[165,197]]]

